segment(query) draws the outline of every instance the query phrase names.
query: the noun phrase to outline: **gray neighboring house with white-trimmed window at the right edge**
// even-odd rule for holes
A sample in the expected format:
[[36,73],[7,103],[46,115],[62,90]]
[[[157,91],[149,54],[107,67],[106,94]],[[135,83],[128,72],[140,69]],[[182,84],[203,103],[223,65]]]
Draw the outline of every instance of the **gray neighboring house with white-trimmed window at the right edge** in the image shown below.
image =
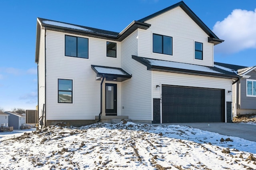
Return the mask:
[[256,113],[256,66],[245,67],[225,63],[214,63],[216,67],[235,72],[241,79],[232,86],[233,115]]

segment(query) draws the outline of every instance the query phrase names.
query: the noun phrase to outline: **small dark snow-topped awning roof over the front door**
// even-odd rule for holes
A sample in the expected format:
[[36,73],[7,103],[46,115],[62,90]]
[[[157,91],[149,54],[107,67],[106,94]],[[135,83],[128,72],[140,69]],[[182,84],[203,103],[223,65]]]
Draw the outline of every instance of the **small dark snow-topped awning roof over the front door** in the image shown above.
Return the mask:
[[118,67],[106,67],[100,65],[91,65],[93,71],[95,71],[97,77],[105,77],[106,81],[125,81],[130,79],[132,75],[128,74]]

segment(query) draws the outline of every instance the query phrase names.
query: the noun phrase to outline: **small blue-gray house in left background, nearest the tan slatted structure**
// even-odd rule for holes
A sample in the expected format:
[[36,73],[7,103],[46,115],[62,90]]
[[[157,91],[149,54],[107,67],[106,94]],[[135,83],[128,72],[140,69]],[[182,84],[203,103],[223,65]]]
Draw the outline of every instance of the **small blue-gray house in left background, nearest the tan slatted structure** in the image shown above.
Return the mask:
[[9,115],[9,127],[13,127],[13,129],[19,130],[22,126],[26,125],[26,116],[10,111],[6,111],[4,113]]

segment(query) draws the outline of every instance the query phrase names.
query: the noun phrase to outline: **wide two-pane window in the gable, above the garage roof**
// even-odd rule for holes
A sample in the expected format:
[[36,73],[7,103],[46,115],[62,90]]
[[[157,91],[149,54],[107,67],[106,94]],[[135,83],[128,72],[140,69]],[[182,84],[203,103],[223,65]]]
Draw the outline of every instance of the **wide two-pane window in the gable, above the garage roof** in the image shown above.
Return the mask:
[[172,37],[153,34],[153,52],[172,55]]

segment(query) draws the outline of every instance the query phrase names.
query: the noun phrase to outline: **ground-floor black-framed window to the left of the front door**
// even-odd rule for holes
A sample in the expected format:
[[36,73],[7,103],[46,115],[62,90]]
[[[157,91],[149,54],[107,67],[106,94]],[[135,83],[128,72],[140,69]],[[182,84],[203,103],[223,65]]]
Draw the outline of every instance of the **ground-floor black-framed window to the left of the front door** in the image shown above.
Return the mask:
[[72,80],[58,79],[58,103],[72,103],[72,99]]

